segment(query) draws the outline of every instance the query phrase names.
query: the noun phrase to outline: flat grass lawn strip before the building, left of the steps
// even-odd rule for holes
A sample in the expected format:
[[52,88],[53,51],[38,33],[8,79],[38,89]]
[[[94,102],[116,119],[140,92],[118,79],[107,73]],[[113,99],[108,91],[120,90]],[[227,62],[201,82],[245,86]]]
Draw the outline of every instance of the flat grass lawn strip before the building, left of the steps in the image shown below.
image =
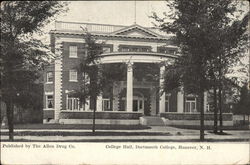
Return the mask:
[[[1,129],[7,129],[8,127],[1,126]],[[96,125],[96,130],[143,130],[150,129],[149,126],[143,125]],[[82,129],[91,130],[92,124],[16,124],[14,129]]]

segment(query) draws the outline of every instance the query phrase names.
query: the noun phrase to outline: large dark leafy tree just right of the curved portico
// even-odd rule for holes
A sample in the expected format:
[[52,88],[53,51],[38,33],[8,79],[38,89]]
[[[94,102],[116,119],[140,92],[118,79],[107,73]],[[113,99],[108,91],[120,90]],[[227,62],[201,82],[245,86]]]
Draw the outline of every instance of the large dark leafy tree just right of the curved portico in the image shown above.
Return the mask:
[[[225,66],[237,60],[238,54],[234,48],[242,40],[240,35],[244,32],[244,26],[239,26],[239,20],[231,24],[235,19],[232,14],[236,12],[236,1],[174,0],[168,2],[167,6],[170,14],[164,13],[165,18],[160,18],[154,13],[153,18],[162,30],[176,35],[174,41],[180,48],[181,56],[166,69],[166,76],[170,77],[166,80],[173,81],[171,77],[175,77],[174,86],[183,85],[187,93],[198,95],[200,139],[203,140],[203,93],[212,86],[219,89],[221,112],[222,84],[219,82],[224,80]],[[168,18],[172,21],[166,22]],[[229,34],[233,35],[227,36]],[[220,119],[222,121],[222,115]]]

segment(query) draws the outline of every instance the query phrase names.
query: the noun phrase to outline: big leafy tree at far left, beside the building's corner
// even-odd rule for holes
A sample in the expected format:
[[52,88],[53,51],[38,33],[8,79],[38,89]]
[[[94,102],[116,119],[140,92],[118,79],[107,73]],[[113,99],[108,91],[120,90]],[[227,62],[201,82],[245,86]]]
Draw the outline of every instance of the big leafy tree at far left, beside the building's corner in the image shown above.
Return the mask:
[[19,98],[30,98],[30,87],[49,58],[48,47],[32,35],[42,33],[41,28],[54,15],[65,11],[65,4],[56,1],[1,3],[1,99],[7,107],[10,140],[14,140],[14,105],[20,103]]

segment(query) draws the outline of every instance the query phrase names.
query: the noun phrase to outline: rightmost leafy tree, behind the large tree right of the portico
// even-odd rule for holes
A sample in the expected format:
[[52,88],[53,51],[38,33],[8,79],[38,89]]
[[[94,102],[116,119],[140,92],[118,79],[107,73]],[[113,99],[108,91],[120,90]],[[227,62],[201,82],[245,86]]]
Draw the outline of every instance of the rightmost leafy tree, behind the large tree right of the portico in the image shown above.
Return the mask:
[[[214,36],[214,44],[216,49],[214,58],[211,61],[211,69],[213,72],[213,87],[214,92],[218,89],[218,110],[220,120],[220,132],[223,130],[222,120],[222,105],[225,90],[229,90],[232,86],[237,87],[240,83],[235,82],[235,79],[230,79],[226,75],[230,73],[232,67],[239,63],[240,59],[245,56],[244,49],[247,45],[247,25],[249,13],[247,13],[243,19],[230,18],[229,14],[237,14],[237,4],[232,1],[221,2],[221,6],[217,7],[222,19],[216,28],[216,35]],[[216,16],[216,15],[215,15]],[[217,36],[218,35],[218,36]],[[217,37],[216,37],[217,36]],[[215,97],[214,97],[215,98]],[[216,102],[216,100],[214,100]],[[217,110],[215,109],[215,113]],[[215,114],[217,116],[217,113]],[[214,132],[217,132],[217,119],[214,120]]]

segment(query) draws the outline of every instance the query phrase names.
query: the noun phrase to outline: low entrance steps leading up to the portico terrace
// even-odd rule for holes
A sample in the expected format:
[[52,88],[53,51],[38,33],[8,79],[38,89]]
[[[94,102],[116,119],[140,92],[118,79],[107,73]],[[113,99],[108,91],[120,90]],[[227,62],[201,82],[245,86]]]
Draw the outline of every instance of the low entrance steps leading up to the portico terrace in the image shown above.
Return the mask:
[[165,125],[163,119],[159,116],[142,116],[140,117],[140,124],[148,125],[148,126],[164,126]]

